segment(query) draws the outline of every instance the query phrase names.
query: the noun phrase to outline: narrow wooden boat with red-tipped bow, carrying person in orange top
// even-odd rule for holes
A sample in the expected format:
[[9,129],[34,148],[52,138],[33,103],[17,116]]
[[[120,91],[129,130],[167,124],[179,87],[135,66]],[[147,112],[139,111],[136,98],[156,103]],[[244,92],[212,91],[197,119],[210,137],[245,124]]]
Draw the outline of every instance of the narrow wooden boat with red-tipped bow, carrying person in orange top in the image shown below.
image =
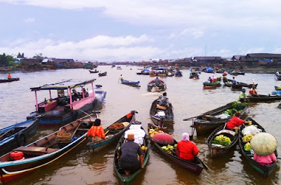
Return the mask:
[[131,111],[129,114],[126,114],[125,116],[123,116],[122,118],[119,118],[119,120],[115,121],[115,123],[123,123],[123,122],[127,122],[129,123],[129,125],[124,125],[124,128],[119,129],[119,130],[110,130],[110,127],[112,125],[114,125],[115,123],[112,123],[111,125],[109,125],[107,128],[105,128],[105,133],[106,133],[106,137],[105,139],[103,139],[102,141],[99,142],[88,142],[87,143],[87,148],[89,149],[89,151],[98,151],[100,149],[103,149],[105,146],[112,144],[112,142],[116,141],[117,139],[119,139],[126,130],[128,130],[128,128],[131,126],[131,123],[133,123],[134,121],[136,121],[136,113],[138,113],[137,111]]

